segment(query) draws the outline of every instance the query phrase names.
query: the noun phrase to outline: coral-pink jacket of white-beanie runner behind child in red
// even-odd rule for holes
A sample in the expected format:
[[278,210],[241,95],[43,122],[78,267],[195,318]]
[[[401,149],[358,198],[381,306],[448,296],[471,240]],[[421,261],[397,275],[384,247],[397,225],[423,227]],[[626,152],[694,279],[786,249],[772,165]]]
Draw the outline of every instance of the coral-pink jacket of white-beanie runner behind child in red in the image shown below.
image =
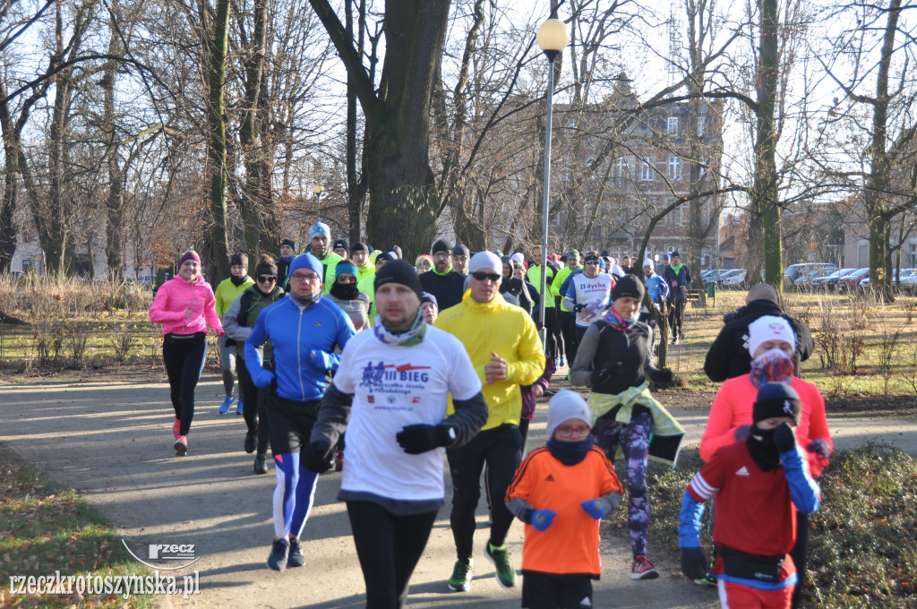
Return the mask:
[[[824,399],[818,387],[795,376],[790,385],[799,393],[802,403],[800,424],[796,427],[796,437],[801,448],[804,450],[813,439],[823,437],[834,450],[831,432],[828,431],[828,420],[824,414]],[[752,405],[755,404],[756,395],[757,389],[751,384],[748,374],[723,383],[713,398],[707,428],[704,429],[701,438],[702,460],[710,462],[717,448],[734,443],[736,427],[752,424]],[[809,471],[813,476],[820,476],[828,460],[822,459],[817,453],[806,454],[809,457]]]

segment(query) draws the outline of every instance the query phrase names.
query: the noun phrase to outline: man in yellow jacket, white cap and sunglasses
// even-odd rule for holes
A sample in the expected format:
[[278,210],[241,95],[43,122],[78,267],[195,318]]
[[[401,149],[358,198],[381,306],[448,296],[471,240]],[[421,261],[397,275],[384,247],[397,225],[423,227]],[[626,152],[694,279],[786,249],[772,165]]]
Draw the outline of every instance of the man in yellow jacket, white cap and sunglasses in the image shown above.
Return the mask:
[[536,382],[545,371],[545,353],[535,323],[525,310],[506,303],[500,295],[500,258],[490,251],[480,251],[471,257],[469,271],[470,290],[462,302],[442,311],[434,323],[465,345],[483,383],[481,393],[489,410],[487,423],[478,436],[462,447],[446,451],[452,476],[450,522],[458,558],[448,581],[454,592],[470,590],[474,512],[481,498],[485,463],[492,497],[486,555],[496,567],[497,582],[504,588],[515,585],[515,569],[505,545],[513,514],[503,503],[503,496],[522,461],[519,385]]

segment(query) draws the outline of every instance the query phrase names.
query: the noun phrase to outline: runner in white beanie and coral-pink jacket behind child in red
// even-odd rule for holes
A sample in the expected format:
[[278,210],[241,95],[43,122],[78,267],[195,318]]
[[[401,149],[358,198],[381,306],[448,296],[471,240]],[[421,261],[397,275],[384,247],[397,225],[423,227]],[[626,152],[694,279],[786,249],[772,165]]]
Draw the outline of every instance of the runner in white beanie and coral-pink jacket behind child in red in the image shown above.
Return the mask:
[[[834,443],[828,431],[822,393],[813,383],[793,376],[796,334],[790,322],[778,316],[758,317],[748,326],[748,352],[752,357],[751,371],[724,382],[713,398],[701,438],[701,459],[710,461],[717,448],[748,437],[749,431],[754,431],[752,410],[758,387],[766,382],[786,382],[799,393],[802,406],[796,437],[806,450],[812,476],[820,476],[834,451]],[[800,581],[793,592],[794,608],[801,601],[809,546],[808,515],[797,515],[796,523],[796,545],[790,556],[796,563]]]

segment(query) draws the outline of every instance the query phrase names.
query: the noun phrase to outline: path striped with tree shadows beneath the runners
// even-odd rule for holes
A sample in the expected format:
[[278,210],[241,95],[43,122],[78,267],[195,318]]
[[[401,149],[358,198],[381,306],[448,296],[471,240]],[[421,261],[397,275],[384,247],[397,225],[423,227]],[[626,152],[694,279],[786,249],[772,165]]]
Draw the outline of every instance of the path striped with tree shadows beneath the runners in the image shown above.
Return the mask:
[[[171,448],[171,405],[164,380],[155,383],[74,381],[0,386],[0,442],[57,481],[72,485],[114,523],[141,558],[151,543],[194,544],[200,559],[181,573],[200,571],[200,595],[163,598],[164,606],[186,607],[359,607],[363,582],[349,536],[344,505],[335,501],[340,474],[323,475],[315,508],[304,531],[304,569],[276,573],[265,559],[271,540],[273,469],[251,471],[242,451],[240,416],[216,414],[221,383],[205,375],[197,391],[190,456]],[[695,401],[690,401],[695,404]],[[703,400],[701,399],[701,403]],[[545,408],[539,407],[530,446],[545,441]],[[696,444],[706,421],[699,407],[673,407]],[[888,439],[917,453],[917,417],[832,416],[835,443],[853,446],[863,438]],[[447,484],[447,488],[448,488]],[[447,498],[448,501],[448,498]],[[479,510],[475,537],[476,577],[469,593],[452,594],[446,579],[454,561],[447,508],[414,573],[409,606],[517,607],[519,590],[503,590],[483,558],[487,517]],[[523,527],[509,537],[517,560]],[[658,543],[650,539],[650,548]],[[652,559],[656,559],[652,552]],[[690,584],[678,565],[657,560],[657,581],[629,579],[630,552],[624,536],[602,540],[602,580],[595,604],[602,607],[707,608],[715,592]]]

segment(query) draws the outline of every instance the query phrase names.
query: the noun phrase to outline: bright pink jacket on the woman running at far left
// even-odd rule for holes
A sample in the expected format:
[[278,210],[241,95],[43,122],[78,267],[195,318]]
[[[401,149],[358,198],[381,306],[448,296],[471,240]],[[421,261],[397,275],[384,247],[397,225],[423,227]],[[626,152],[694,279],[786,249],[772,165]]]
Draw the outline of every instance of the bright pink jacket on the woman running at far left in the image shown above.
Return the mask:
[[[185,313],[188,309],[191,309],[191,316]],[[216,334],[223,334],[223,325],[216,315],[214,291],[200,275],[193,282],[186,282],[178,276],[163,283],[149,307],[149,320],[164,324],[163,336],[206,332],[207,324],[216,330]]]

